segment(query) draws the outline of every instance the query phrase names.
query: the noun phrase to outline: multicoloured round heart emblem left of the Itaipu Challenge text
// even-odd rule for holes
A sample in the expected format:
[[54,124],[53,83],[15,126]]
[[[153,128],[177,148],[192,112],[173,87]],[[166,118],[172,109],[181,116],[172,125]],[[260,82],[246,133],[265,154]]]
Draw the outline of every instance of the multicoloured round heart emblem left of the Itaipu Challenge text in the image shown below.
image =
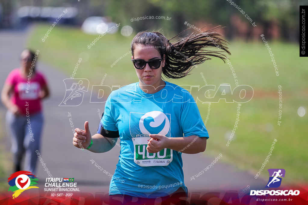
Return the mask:
[[39,188],[34,186],[39,178],[35,177],[30,171],[17,171],[10,175],[8,183],[10,188],[8,191],[13,192],[13,199],[18,197],[23,191],[31,188]]

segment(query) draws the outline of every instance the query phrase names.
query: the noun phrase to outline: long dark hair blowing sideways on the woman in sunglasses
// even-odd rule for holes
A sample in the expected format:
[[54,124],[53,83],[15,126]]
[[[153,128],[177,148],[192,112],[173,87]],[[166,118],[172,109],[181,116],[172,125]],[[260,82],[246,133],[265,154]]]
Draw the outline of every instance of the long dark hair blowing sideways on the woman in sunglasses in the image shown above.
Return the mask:
[[132,40],[132,56],[134,56],[134,49],[137,45],[153,45],[161,57],[165,54],[165,66],[162,73],[167,78],[179,79],[189,75],[195,65],[210,60],[211,57],[221,58],[225,62],[224,53],[231,54],[227,47],[228,41],[223,40],[220,34],[213,32],[220,27],[217,26],[203,33],[192,33],[173,43],[170,43],[160,32],[142,31]]

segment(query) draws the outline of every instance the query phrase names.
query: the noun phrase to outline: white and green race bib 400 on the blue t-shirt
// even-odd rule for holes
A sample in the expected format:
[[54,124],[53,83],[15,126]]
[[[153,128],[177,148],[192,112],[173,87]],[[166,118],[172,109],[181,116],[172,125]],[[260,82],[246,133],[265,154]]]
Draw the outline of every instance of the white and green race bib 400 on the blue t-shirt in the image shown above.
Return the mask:
[[147,152],[148,141],[151,137],[134,137],[134,162],[141,167],[167,166],[172,162],[172,150],[164,148],[160,152]]

